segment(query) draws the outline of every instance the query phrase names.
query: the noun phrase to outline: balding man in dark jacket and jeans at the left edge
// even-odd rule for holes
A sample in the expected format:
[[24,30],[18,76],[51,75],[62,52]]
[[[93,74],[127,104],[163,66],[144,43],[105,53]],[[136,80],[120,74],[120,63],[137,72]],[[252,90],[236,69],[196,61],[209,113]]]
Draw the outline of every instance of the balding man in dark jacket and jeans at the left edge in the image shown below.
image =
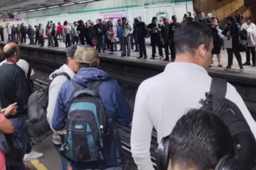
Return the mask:
[[[15,133],[22,145],[23,156],[27,147],[26,120],[27,103],[28,103],[28,87],[26,75],[24,71],[16,65],[19,61],[19,46],[15,42],[6,44],[3,52],[7,59],[6,63],[0,67],[0,101],[1,108],[6,108],[10,104],[17,103],[18,109],[14,116],[7,118],[13,123]],[[25,169],[23,162],[15,165],[14,169]]]

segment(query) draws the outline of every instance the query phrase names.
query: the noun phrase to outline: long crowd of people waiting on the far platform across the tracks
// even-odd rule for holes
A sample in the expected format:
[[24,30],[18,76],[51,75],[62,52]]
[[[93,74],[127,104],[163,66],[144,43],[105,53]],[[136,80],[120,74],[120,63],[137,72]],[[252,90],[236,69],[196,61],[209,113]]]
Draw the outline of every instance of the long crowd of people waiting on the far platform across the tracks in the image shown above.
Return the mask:
[[[206,17],[204,12],[195,10],[193,16],[191,12],[184,14],[183,21],[197,21],[209,25],[212,28],[212,36],[214,38],[214,49],[212,54],[217,56],[218,67],[222,67],[221,64],[221,46],[227,49],[228,53],[228,66],[226,69],[231,69],[233,65],[233,54],[236,56],[240,70],[243,71],[243,65],[253,65],[256,62],[256,26],[252,23],[250,16],[243,16],[236,10],[235,16],[228,16],[226,18],[226,24],[223,26],[216,16],[208,14]],[[242,21],[245,23],[242,24]],[[53,23],[49,21],[46,28],[42,27],[42,24],[35,25],[35,29],[31,25],[28,28],[22,25],[10,27],[7,25],[7,33],[9,39],[20,40],[26,43],[26,33],[30,37],[30,45],[37,43],[40,46],[44,46],[44,39],[48,39],[48,46],[59,46],[59,41],[65,42],[66,48],[72,44],[96,45],[98,52],[105,53],[106,50],[110,50],[110,54],[114,54],[117,49],[117,37],[122,52],[121,57],[130,56],[131,50],[139,52],[138,58],[147,58],[147,51],[145,46],[145,39],[150,38],[152,46],[152,56],[150,59],[156,57],[156,46],[158,46],[160,59],[163,59],[163,50],[165,52],[165,58],[163,61],[169,61],[169,52],[171,52],[171,61],[175,61],[175,48],[173,42],[173,35],[175,29],[179,27],[180,23],[177,22],[177,17],[174,15],[171,19],[167,16],[161,17],[160,20],[156,17],[152,18],[150,24],[145,24],[141,18],[134,18],[133,23],[130,23],[125,17],[118,19],[117,23],[113,22],[113,18],[109,20],[97,19],[96,23],[91,20],[85,23],[82,20],[78,22],[69,23],[65,21],[63,25],[61,23]],[[1,33],[1,28],[0,28]],[[16,36],[15,36],[16,34]],[[35,36],[35,43],[34,43]],[[20,39],[21,37],[21,39]],[[127,52],[126,52],[127,50]],[[242,63],[242,57],[240,52],[246,52],[246,62]],[[251,53],[251,59],[250,59]],[[252,61],[252,63],[250,62]],[[211,66],[211,65],[210,65]]]

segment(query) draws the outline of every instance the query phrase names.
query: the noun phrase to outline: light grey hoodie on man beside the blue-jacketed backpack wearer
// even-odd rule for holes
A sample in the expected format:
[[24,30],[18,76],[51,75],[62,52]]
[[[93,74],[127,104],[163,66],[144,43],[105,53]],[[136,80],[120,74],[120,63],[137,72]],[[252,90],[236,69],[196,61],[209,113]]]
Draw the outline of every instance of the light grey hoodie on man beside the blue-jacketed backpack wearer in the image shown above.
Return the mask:
[[[59,73],[67,73],[71,79],[75,75],[71,69],[67,65],[63,65],[60,67],[60,69],[55,70],[51,75],[49,75],[49,79],[53,79],[53,74],[59,74]],[[52,129],[52,116],[57,100],[57,96],[59,94],[60,88],[63,85],[63,83],[67,82],[67,78],[63,76],[57,76],[55,79],[52,80],[51,85],[49,86],[49,101],[48,101],[48,107],[47,107],[47,121]],[[52,142],[55,145],[61,145],[59,134],[52,129]]]

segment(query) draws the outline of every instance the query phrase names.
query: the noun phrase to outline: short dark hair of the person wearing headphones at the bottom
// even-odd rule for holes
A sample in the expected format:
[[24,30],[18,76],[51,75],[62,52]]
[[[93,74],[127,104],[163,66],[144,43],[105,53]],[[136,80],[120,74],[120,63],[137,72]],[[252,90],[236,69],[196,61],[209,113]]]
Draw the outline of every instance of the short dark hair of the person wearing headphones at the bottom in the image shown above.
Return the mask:
[[172,166],[214,169],[223,156],[233,154],[233,139],[228,127],[216,114],[205,111],[191,110],[182,116],[169,139]]

